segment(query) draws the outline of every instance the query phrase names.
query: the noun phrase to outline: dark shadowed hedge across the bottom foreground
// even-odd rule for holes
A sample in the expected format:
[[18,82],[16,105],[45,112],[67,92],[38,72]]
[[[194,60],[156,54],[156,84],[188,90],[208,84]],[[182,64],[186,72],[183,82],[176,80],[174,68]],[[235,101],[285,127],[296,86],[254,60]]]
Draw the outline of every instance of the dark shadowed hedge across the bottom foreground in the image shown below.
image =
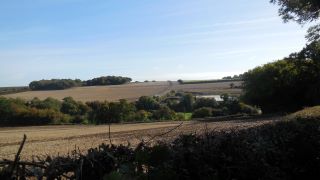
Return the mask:
[[319,128],[319,119],[290,119],[247,130],[183,135],[154,146],[102,144],[86,155],[74,152],[33,162],[37,168],[21,163],[12,175],[10,163],[2,164],[0,179],[319,179]]

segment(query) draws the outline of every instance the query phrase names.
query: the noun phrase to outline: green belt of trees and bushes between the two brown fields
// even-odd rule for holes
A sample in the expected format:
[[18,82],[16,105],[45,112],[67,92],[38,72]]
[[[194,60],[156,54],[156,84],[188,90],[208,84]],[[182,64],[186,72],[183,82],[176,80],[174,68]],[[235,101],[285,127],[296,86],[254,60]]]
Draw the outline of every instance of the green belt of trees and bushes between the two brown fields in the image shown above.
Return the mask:
[[[257,114],[258,109],[235,97],[225,101],[195,98],[192,94],[170,92],[162,97],[142,96],[135,102],[92,101],[83,103],[72,97],[23,100],[0,97],[1,125],[107,124],[119,122],[187,120],[238,113]],[[204,110],[205,109],[205,110]],[[205,112],[204,112],[205,111]]]

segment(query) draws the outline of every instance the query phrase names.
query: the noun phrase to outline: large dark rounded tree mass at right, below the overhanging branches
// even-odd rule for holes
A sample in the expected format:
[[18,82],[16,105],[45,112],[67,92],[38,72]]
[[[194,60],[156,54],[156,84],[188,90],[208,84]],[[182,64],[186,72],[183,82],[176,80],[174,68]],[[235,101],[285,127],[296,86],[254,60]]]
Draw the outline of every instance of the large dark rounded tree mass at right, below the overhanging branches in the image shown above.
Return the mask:
[[318,105],[319,97],[320,42],[244,74],[243,100],[264,112],[291,112]]

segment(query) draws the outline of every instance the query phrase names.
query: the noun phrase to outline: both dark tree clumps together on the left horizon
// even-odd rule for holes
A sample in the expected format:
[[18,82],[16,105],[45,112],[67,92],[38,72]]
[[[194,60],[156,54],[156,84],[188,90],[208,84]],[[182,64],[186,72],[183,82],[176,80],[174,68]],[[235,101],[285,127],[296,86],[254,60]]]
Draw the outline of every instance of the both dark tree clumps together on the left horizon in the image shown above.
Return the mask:
[[102,76],[87,81],[80,79],[51,79],[32,81],[29,84],[31,90],[63,90],[80,86],[120,85],[131,82],[132,79],[122,76]]

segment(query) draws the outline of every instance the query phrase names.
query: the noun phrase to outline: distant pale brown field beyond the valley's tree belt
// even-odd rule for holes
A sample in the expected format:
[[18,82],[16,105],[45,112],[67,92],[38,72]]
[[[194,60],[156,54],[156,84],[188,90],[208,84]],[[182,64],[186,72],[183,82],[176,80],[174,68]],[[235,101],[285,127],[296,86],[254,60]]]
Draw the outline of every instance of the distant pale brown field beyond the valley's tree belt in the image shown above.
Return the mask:
[[[223,93],[238,95],[241,89],[230,88],[232,82],[201,83],[201,84],[179,84],[177,82],[148,82],[148,83],[130,83],[113,86],[89,86],[77,87],[66,90],[54,91],[27,91],[15,94],[4,95],[5,97],[21,97],[32,99],[38,97],[45,99],[52,97],[63,99],[71,96],[78,101],[118,101],[126,99],[135,101],[141,96],[163,95],[171,90],[191,92],[196,94],[220,95]],[[240,86],[241,82],[233,82],[235,86]]]

